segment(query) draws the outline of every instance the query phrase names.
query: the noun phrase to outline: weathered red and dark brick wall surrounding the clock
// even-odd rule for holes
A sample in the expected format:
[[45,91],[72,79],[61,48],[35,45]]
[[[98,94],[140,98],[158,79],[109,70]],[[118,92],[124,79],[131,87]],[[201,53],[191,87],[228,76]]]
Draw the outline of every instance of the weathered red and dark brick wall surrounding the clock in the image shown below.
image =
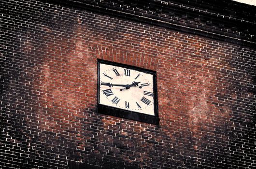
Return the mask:
[[[0,168],[256,166],[256,7],[216,1],[2,1]],[[97,113],[98,58],[156,71],[159,125]]]

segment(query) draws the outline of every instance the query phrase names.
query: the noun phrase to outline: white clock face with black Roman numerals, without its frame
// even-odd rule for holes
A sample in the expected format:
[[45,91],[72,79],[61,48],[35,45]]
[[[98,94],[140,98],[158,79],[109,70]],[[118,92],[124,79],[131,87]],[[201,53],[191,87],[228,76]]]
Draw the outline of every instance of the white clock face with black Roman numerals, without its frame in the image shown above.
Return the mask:
[[100,63],[100,104],[155,115],[153,75]]

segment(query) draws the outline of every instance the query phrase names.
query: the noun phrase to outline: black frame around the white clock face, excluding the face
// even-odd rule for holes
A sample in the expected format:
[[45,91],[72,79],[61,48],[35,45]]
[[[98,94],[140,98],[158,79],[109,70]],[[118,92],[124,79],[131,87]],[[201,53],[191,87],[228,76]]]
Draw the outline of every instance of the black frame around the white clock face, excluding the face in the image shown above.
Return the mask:
[[[138,113],[138,112],[123,110],[123,109],[100,104],[100,63],[113,65],[113,66],[119,66],[119,67],[123,67],[123,68],[127,68],[127,69],[132,69],[132,70],[137,70],[137,71],[142,71],[145,73],[152,74],[153,75],[153,90],[154,90],[153,97],[154,97],[154,102],[155,102],[155,104],[154,104],[155,115],[148,115],[145,113]],[[121,64],[121,63],[98,59],[98,113],[158,125],[159,118],[158,118],[158,101],[157,101],[157,90],[156,90],[156,71],[146,70],[146,69],[138,68],[135,66],[130,66],[130,65],[126,65],[126,64]]]

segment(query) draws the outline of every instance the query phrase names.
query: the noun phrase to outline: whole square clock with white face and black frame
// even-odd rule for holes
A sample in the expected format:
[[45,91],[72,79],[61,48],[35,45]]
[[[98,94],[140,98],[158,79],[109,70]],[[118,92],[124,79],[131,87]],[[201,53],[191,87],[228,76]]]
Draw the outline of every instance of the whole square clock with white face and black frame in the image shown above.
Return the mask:
[[98,60],[98,113],[159,123],[156,72]]

